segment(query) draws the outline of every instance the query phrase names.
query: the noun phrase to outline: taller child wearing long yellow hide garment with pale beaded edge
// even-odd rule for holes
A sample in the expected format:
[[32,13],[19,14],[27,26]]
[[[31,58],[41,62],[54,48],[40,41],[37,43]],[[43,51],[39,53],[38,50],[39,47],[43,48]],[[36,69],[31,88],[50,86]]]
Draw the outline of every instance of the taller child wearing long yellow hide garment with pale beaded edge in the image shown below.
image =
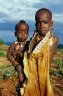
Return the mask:
[[[33,96],[53,96],[49,79],[49,64],[55,53],[58,38],[53,36],[51,30],[53,25],[51,11],[46,8],[39,9],[35,14],[35,21],[36,31],[30,41],[28,50],[30,57],[27,58],[25,55],[24,61],[27,61],[27,63],[24,62],[24,65],[29,65],[30,73],[32,74],[30,75],[31,77],[35,77],[34,80],[36,80],[36,83],[39,85],[39,89],[38,86],[36,87],[39,94],[37,94],[38,91],[35,93],[34,86],[30,87],[33,85],[32,83],[34,83],[33,80],[33,82],[28,85],[28,89],[26,86],[24,96],[30,96],[30,94],[33,94]],[[32,54],[30,54],[31,52]],[[32,81],[32,79],[30,81]]]

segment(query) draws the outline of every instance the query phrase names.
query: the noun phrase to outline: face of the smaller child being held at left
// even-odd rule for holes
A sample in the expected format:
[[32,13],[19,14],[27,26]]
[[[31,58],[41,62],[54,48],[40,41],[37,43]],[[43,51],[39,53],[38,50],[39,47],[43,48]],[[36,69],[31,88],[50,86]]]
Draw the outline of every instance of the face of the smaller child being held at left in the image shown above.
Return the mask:
[[17,31],[17,39],[21,42],[26,41],[28,38],[28,27],[26,24],[21,24]]

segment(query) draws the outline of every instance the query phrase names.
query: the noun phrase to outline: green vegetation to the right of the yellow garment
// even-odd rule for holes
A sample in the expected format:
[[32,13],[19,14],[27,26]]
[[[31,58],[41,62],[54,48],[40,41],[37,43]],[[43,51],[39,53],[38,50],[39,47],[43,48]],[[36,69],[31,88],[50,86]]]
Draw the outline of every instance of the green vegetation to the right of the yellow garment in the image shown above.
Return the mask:
[[57,48],[56,58],[53,58],[53,67],[50,68],[50,73],[63,79],[63,48]]

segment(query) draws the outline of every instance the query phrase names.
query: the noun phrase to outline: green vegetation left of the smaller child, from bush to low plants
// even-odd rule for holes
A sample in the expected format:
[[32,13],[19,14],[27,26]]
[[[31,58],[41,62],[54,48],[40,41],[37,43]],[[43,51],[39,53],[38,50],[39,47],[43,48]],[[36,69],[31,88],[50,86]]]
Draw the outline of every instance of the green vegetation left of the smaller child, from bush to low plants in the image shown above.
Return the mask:
[[7,51],[4,49],[0,49],[0,57],[4,58],[2,61],[0,61],[0,79],[4,79],[4,77],[13,78],[14,75],[17,75],[17,72],[15,71],[12,64],[6,64],[5,57],[7,56]]

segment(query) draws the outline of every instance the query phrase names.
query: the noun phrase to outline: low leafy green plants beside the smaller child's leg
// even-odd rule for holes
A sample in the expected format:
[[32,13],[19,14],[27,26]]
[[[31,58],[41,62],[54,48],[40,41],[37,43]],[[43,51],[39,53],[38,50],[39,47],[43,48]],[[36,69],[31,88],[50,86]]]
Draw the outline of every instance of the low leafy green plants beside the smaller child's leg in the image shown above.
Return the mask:
[[17,72],[11,64],[9,66],[0,66],[0,74],[0,79],[4,79],[4,77],[12,79],[14,75],[17,75]]

